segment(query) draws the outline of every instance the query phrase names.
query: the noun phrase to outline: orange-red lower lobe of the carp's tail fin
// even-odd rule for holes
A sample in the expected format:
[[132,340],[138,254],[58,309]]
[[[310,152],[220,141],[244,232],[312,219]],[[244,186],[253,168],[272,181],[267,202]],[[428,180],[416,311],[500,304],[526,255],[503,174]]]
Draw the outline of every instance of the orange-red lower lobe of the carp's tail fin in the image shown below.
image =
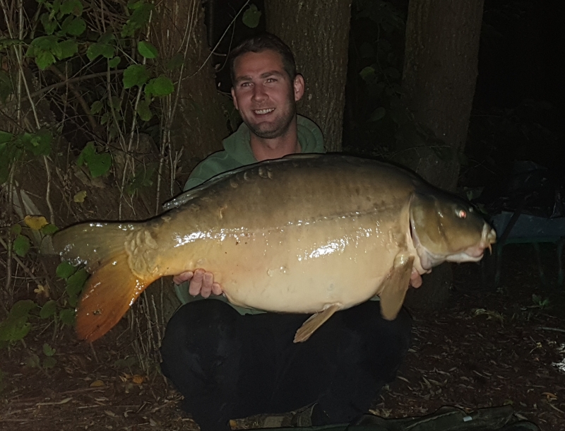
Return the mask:
[[122,252],[103,262],[88,279],[76,309],[76,332],[95,341],[112,329],[153,280],[139,280]]

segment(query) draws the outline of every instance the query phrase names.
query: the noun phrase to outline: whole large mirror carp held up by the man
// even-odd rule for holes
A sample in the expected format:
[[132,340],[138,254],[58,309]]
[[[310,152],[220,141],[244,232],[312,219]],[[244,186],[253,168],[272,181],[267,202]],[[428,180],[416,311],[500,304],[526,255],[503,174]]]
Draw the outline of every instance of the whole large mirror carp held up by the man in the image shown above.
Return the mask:
[[496,239],[467,201],[399,167],[343,155],[292,155],[219,175],[131,223],[81,223],[54,247],[92,276],[77,307],[94,341],[153,281],[204,268],[230,302],[314,313],[306,340],[340,310],[379,295],[394,319],[410,285],[444,261],[479,261]]

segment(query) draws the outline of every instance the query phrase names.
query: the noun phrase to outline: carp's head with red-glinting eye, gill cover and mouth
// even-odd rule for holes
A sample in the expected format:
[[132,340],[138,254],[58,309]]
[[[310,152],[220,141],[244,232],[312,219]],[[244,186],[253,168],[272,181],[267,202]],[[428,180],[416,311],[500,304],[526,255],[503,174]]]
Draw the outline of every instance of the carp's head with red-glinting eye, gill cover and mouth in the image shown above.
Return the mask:
[[446,192],[416,192],[410,201],[410,228],[424,270],[444,261],[476,262],[496,242],[496,232],[480,211]]

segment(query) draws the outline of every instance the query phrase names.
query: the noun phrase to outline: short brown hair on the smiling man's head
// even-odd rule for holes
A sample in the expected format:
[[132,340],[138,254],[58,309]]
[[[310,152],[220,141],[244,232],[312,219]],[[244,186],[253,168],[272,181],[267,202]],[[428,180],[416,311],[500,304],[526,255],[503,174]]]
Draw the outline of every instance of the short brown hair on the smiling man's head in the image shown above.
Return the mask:
[[283,59],[283,69],[285,69],[290,80],[292,81],[292,79],[296,78],[295,56],[292,55],[292,51],[288,45],[271,33],[261,33],[261,35],[249,37],[230,51],[230,75],[232,76],[232,83],[235,81],[234,64],[237,57],[247,52],[262,52],[267,49],[278,52]]

